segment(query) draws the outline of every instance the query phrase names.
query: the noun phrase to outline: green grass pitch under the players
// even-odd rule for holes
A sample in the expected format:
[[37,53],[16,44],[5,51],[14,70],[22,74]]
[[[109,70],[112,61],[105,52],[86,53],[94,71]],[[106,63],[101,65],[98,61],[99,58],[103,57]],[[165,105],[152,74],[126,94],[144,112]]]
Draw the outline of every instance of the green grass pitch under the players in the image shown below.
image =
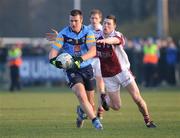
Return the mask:
[[96,131],[90,120],[75,127],[74,94],[66,88],[26,88],[21,92],[0,91],[0,138],[179,138],[179,89],[143,90],[156,129],[144,126],[141,114],[127,92],[123,107],[109,111]]

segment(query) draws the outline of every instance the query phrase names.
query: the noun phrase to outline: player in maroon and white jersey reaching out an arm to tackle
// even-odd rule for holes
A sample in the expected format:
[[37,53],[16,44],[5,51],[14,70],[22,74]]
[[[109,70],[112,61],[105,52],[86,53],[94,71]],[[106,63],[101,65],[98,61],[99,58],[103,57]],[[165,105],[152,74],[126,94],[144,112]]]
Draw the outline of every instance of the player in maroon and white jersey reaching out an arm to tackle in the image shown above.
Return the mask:
[[130,72],[130,63],[123,50],[125,39],[123,35],[115,30],[116,18],[109,15],[104,19],[103,32],[97,40],[97,55],[100,58],[101,72],[105,82],[106,102],[102,103],[104,109],[111,107],[113,110],[119,110],[121,107],[120,86],[125,87],[139,111],[144,117],[148,128],[156,127],[151,121],[146,102],[142,98],[139,88]]

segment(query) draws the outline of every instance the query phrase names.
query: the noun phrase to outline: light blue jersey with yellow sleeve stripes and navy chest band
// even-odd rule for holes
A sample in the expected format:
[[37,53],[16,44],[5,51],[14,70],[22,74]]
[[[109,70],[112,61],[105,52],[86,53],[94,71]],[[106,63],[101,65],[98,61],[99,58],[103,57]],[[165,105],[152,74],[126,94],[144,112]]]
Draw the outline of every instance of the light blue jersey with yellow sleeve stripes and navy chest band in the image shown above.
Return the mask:
[[[52,47],[56,50],[63,50],[71,56],[82,56],[88,52],[91,46],[96,46],[94,33],[85,25],[79,33],[72,31],[70,26],[65,27],[59,32]],[[81,68],[91,64],[91,59],[81,63]]]

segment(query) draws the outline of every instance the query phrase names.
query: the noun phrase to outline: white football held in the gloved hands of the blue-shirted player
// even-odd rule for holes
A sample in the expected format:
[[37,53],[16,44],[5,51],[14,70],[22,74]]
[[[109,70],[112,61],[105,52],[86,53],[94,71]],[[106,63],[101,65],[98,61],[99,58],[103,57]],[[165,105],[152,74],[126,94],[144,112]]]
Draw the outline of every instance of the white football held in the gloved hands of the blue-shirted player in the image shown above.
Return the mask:
[[73,65],[73,58],[68,53],[61,53],[57,58],[57,61],[60,61],[62,63],[62,67],[64,69],[69,69]]

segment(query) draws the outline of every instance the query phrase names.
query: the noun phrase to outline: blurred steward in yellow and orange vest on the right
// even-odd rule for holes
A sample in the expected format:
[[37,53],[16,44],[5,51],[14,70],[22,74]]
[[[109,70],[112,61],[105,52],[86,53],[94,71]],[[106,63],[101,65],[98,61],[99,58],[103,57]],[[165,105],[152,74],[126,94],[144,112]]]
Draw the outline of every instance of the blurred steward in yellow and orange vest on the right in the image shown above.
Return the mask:
[[159,50],[151,38],[146,41],[143,53],[145,87],[157,86]]

